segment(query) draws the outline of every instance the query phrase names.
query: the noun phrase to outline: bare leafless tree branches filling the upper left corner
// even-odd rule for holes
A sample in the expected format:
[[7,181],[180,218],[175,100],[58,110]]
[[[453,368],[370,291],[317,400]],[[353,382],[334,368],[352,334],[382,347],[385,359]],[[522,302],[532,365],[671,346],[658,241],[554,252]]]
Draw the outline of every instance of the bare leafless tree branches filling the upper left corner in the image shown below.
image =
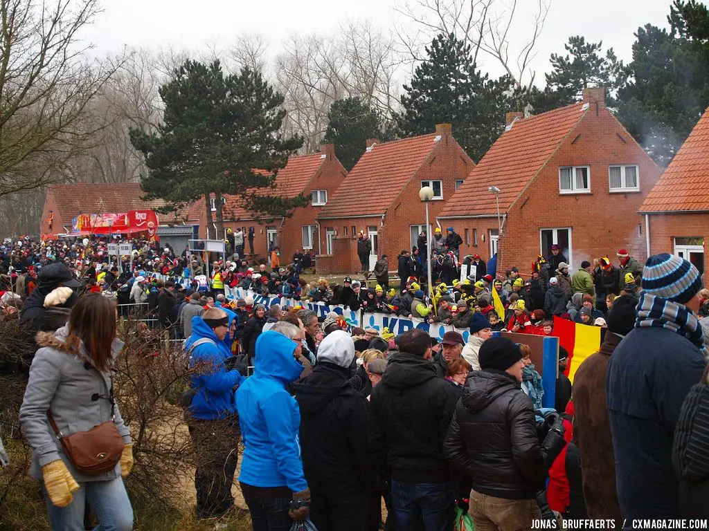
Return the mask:
[[79,30],[98,0],[0,0],[0,197],[61,178],[96,132],[86,108],[116,64],[91,61]]

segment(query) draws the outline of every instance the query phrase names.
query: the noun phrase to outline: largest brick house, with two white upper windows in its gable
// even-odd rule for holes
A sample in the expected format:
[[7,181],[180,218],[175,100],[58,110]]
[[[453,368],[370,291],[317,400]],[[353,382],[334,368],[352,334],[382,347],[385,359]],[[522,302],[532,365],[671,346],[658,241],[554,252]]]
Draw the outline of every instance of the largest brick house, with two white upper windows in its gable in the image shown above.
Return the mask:
[[499,251],[498,274],[513,265],[526,273],[552,244],[572,268],[615,259],[623,248],[642,261],[637,210],[660,173],[606,108],[603,87],[586,89],[574,105],[530,118],[508,113],[505,131],[438,220],[461,234],[461,256],[487,261]]

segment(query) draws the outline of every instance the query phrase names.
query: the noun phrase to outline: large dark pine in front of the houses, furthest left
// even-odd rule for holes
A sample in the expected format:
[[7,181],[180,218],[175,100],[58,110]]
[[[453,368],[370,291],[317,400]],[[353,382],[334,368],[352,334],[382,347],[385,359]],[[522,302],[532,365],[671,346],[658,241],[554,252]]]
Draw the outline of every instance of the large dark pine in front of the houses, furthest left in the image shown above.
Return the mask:
[[146,200],[160,198],[174,209],[203,197],[210,227],[214,194],[217,238],[224,194],[257,217],[287,216],[306,204],[274,190],[278,170],[303,141],[280,132],[284,98],[261,74],[245,68],[225,76],[218,61],[187,61],[159,92],[164,114],[157,132],[130,130],[149,169],[141,180]]

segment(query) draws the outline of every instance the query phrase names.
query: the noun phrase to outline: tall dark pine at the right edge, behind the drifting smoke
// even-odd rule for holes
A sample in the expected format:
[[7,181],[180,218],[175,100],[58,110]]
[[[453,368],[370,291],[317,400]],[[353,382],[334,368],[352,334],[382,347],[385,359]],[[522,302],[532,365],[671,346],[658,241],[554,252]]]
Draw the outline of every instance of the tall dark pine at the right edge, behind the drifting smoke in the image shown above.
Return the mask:
[[647,24],[632,46],[631,81],[618,118],[660,166],[667,166],[709,104],[709,9],[675,0],[670,30]]

